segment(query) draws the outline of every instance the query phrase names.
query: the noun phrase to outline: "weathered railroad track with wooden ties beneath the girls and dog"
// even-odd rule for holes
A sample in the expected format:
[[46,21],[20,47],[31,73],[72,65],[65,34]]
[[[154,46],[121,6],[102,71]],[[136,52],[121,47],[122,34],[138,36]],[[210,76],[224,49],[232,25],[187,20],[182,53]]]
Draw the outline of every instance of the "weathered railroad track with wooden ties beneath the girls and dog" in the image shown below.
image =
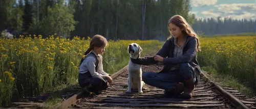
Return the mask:
[[[142,71],[158,72],[160,66],[142,66]],[[221,83],[212,82],[203,72],[195,88],[193,98],[165,98],[163,90],[146,84],[143,94],[126,94],[127,66],[111,75],[114,84],[100,95],[84,97],[75,94],[55,108],[256,108],[255,99],[247,98],[232,88],[222,88]]]

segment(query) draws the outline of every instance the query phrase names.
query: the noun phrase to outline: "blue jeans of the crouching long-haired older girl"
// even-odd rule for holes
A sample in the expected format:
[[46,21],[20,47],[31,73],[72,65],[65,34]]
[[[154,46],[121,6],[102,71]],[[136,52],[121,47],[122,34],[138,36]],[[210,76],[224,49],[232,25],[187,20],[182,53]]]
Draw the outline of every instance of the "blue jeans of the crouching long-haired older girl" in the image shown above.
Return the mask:
[[189,63],[180,63],[179,69],[169,72],[144,72],[142,74],[142,80],[151,86],[155,86],[160,89],[170,90],[175,83],[184,83],[184,80],[188,80],[193,77],[193,82],[196,81],[196,75],[194,68]]

